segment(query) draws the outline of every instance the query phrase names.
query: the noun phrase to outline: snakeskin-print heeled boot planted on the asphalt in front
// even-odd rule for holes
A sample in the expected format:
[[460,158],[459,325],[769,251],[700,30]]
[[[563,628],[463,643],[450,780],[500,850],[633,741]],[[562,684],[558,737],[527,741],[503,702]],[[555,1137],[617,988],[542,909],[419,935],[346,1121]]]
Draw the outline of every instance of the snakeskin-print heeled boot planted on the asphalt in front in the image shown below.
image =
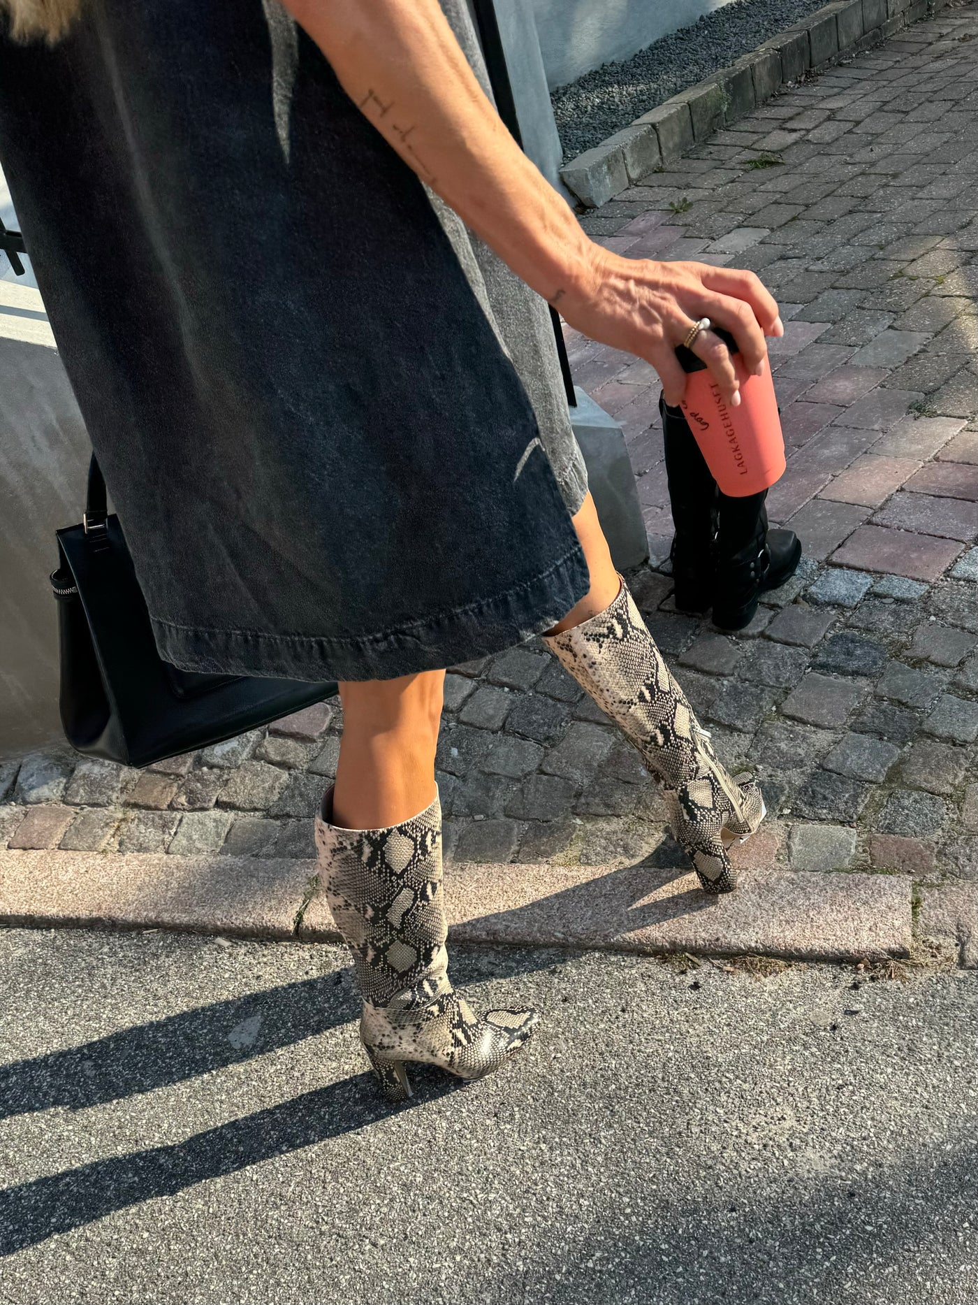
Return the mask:
[[330,788],[316,822],[319,877],[353,953],[360,1040],[383,1095],[412,1095],[411,1061],[464,1079],[492,1074],[529,1039],[537,1015],[490,1010],[480,1018],[449,981],[438,797],[389,829],[340,829],[331,817]]

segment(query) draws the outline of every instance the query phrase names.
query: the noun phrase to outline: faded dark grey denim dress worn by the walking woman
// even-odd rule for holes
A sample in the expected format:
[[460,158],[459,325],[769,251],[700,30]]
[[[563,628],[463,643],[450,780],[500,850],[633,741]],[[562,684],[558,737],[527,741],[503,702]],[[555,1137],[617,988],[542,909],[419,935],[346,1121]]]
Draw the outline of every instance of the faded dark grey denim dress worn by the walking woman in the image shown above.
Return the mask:
[[390,677],[559,620],[579,455],[317,47],[275,0],[82,13],[0,34],[0,159],[162,654]]

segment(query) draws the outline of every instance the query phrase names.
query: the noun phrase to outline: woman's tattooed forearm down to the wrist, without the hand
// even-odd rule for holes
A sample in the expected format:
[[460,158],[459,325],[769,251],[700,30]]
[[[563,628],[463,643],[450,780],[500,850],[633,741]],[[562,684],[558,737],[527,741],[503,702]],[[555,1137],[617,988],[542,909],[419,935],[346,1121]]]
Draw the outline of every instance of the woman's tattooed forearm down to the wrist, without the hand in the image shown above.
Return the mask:
[[349,98],[537,294],[587,278],[591,241],[482,93],[437,0],[284,0]]

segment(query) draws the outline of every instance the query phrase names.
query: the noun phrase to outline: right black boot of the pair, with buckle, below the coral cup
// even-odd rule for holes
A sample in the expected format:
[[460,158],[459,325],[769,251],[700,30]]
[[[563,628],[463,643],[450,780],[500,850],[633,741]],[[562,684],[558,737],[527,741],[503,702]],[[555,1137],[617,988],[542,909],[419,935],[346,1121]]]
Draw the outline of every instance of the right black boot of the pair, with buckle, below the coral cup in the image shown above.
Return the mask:
[[767,489],[732,499],[717,492],[716,589],[713,624],[742,630],[758,611],[758,599],[790,579],[802,560],[793,530],[769,530]]

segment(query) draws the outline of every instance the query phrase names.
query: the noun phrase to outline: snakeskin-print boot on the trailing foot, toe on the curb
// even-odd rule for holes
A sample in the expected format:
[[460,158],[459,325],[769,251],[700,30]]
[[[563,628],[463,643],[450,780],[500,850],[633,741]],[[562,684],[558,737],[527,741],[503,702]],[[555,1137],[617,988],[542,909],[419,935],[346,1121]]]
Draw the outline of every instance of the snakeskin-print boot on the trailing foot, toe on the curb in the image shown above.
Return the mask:
[[717,761],[625,581],[604,612],[545,642],[662,784],[673,837],[703,890],[732,893],[737,872],[728,847],[764,818],[760,788],[738,784]]

